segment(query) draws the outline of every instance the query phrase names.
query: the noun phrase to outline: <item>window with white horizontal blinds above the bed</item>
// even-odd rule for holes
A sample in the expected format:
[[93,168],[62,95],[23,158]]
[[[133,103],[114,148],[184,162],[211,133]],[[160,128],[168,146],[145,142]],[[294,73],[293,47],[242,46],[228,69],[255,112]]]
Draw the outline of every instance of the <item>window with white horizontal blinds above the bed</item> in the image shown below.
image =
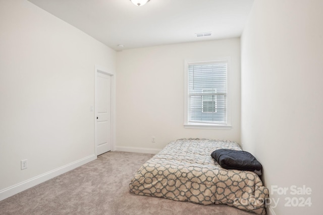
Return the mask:
[[185,64],[185,127],[230,126],[227,94],[229,60]]

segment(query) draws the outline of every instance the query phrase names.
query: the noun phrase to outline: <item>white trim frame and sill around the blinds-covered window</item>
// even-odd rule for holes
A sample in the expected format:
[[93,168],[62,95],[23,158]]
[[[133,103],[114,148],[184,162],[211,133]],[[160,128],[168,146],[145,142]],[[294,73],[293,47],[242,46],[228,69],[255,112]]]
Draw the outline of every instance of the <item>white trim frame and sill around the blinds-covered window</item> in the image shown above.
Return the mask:
[[[227,62],[227,122],[226,123],[202,123],[202,122],[189,122],[188,121],[188,110],[189,110],[189,89],[188,89],[188,78],[189,78],[189,65],[200,65],[210,63],[221,63]],[[231,129],[231,109],[230,109],[230,65],[231,57],[220,57],[210,60],[184,60],[184,128],[193,129]]]

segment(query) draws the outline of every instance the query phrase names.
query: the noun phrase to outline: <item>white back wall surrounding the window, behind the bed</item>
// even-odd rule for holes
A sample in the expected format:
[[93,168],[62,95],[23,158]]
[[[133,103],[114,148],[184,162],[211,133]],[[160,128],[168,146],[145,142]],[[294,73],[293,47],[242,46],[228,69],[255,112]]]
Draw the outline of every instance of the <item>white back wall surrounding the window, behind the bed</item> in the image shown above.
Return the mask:
[[[184,60],[224,56],[232,62],[232,129],[185,129]],[[239,38],[124,50],[117,53],[117,71],[117,150],[163,149],[184,137],[240,141]],[[154,152],[143,149],[139,151]]]

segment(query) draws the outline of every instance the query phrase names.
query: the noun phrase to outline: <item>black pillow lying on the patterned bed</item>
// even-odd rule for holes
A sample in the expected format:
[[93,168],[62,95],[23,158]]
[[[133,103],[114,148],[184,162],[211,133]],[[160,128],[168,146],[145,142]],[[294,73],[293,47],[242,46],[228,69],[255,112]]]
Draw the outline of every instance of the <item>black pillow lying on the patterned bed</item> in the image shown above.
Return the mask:
[[261,170],[262,166],[253,155],[245,151],[221,149],[211,153],[221,167],[235,170]]

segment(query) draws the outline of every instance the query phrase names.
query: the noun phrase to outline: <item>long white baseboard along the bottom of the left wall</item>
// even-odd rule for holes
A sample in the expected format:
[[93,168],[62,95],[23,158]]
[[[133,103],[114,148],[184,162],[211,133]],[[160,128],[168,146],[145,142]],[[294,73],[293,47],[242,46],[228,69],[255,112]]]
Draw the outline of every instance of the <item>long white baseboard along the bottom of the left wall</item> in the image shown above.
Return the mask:
[[0,201],[4,200],[5,198],[8,198],[10,196],[13,196],[19,192],[22,192],[26,189],[29,189],[30,187],[33,187],[33,186],[40,184],[44,181],[55,178],[56,176],[62,175],[63,173],[66,173],[66,172],[71,171],[77,167],[80,167],[84,164],[94,161],[96,158],[97,158],[96,155],[90,155],[90,156],[82,158],[78,161],[67,164],[63,167],[59,167],[55,170],[51,170],[49,172],[38,175],[36,177],[33,177],[31,179],[28,179],[26,181],[23,181],[21,183],[13,185],[11,187],[0,190]]

